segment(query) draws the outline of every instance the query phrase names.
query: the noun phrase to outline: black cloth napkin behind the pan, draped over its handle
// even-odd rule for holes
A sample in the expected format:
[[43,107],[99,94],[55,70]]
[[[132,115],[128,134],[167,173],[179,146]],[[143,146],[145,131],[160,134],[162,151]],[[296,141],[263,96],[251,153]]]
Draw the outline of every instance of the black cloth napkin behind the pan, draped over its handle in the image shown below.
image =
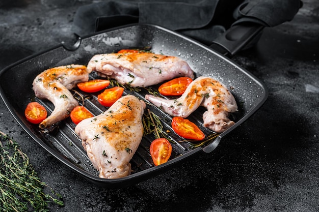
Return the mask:
[[78,8],[73,32],[84,37],[130,23],[160,25],[209,45],[231,25],[290,21],[300,0],[107,0]]

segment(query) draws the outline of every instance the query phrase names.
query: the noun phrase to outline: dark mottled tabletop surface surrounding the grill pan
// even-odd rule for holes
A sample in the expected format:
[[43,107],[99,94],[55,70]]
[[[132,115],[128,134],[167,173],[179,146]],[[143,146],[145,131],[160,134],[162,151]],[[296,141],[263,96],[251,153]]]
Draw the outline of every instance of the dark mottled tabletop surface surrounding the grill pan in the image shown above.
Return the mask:
[[[78,6],[89,0],[3,0],[0,69],[70,42]],[[267,102],[211,154],[124,189],[98,188],[43,150],[0,100],[0,131],[64,197],[51,211],[319,211],[319,2],[266,28],[233,57],[269,88]],[[0,79],[1,80],[1,79]]]

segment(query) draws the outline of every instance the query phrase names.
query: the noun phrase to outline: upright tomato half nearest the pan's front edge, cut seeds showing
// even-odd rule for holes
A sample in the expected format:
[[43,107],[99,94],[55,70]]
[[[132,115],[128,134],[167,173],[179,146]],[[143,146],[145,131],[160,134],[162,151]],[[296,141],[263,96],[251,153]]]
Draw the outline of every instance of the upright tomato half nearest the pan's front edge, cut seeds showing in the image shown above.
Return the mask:
[[166,138],[157,138],[152,141],[149,152],[155,166],[166,163],[172,154],[172,145]]

